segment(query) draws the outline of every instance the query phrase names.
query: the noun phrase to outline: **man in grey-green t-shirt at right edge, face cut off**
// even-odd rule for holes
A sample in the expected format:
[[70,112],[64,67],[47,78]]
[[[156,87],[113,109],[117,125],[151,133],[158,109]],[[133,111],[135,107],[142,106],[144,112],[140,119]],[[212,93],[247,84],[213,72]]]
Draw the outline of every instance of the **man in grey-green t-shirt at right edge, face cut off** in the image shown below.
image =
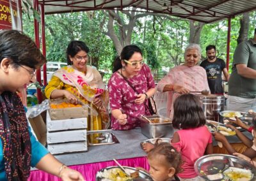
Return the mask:
[[256,112],[256,29],[253,39],[236,47],[228,81],[227,110]]

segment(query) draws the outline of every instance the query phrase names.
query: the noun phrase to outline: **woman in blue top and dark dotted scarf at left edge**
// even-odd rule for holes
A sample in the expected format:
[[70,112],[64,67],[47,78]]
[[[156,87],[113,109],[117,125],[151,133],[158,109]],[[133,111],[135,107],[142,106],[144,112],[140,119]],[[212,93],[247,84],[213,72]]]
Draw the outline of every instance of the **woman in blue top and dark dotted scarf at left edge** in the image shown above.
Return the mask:
[[0,180],[28,180],[30,166],[62,180],[84,180],[36,140],[16,93],[35,82],[35,70],[45,62],[31,38],[15,30],[0,31]]

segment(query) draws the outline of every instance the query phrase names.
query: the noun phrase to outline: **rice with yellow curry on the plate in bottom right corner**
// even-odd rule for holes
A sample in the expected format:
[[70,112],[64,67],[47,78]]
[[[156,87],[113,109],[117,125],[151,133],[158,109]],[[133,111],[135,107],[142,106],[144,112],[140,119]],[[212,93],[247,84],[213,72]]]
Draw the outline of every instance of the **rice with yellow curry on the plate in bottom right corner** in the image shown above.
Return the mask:
[[249,181],[253,177],[252,171],[235,167],[230,167],[223,173],[230,181]]

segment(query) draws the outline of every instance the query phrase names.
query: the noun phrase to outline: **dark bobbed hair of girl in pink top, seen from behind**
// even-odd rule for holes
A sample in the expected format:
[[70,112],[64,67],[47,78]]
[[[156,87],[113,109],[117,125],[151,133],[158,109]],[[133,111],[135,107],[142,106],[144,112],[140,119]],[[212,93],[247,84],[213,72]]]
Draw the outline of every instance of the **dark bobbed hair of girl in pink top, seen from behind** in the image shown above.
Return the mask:
[[205,125],[202,104],[193,94],[182,94],[173,104],[173,127],[189,129]]

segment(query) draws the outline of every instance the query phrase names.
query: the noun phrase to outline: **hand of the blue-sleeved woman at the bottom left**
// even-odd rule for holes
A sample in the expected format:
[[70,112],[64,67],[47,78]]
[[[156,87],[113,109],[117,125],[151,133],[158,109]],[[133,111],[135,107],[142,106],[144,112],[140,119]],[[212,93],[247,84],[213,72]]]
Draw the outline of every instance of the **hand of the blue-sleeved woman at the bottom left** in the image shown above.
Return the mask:
[[76,170],[72,170],[65,166],[60,172],[60,178],[63,181],[84,181],[84,177],[81,173]]

